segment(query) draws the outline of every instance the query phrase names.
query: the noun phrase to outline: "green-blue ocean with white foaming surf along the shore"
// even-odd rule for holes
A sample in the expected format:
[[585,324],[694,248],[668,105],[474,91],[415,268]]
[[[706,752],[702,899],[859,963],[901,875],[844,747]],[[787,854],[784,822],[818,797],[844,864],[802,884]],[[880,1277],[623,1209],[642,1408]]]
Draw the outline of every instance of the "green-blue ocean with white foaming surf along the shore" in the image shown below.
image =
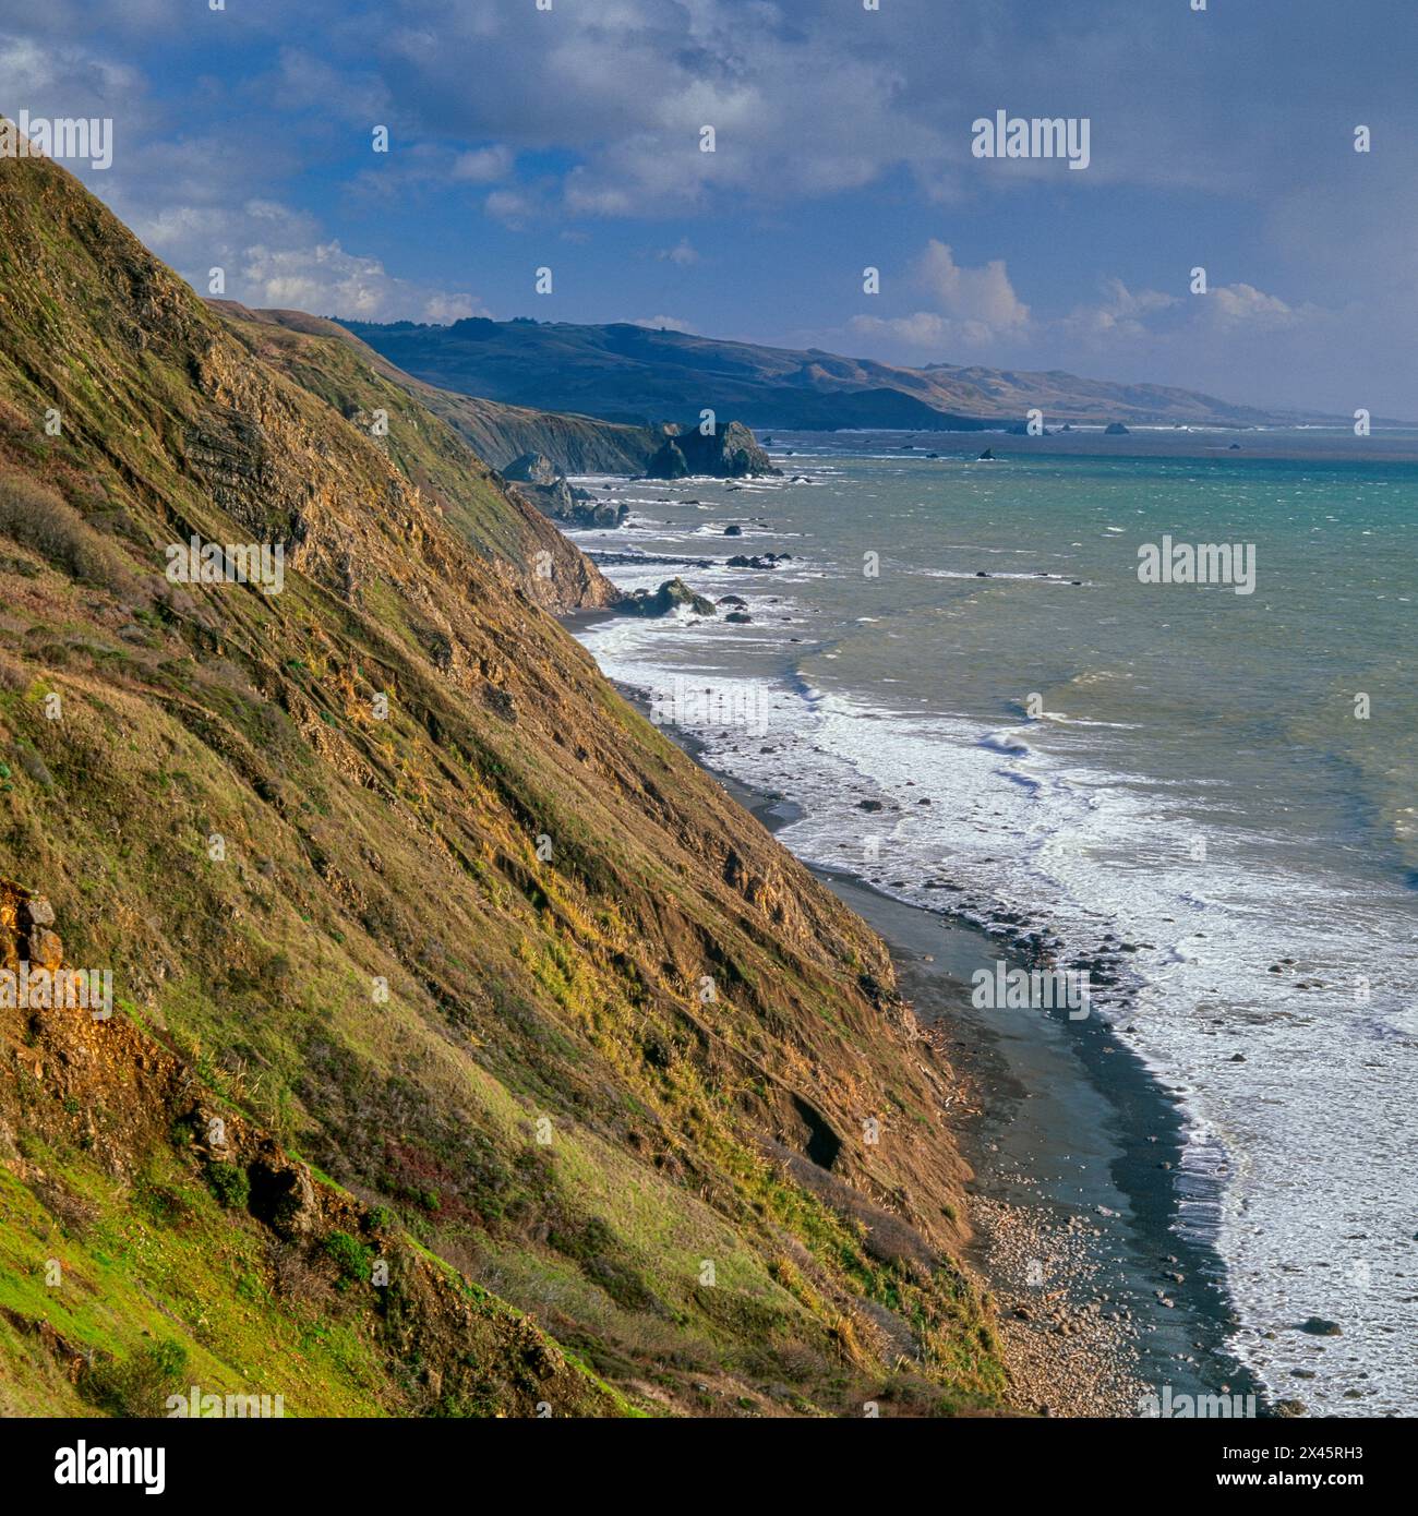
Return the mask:
[[[1090,1014],[1181,1101],[1230,1349],[1312,1413],[1412,1413],[1418,434],[1112,441],[780,432],[783,479],[576,481],[631,508],[588,552],[714,561],[622,588],[751,617],[579,635],[798,802],[804,860],[1115,966]],[[1139,578],[1222,546],[1225,582]]]

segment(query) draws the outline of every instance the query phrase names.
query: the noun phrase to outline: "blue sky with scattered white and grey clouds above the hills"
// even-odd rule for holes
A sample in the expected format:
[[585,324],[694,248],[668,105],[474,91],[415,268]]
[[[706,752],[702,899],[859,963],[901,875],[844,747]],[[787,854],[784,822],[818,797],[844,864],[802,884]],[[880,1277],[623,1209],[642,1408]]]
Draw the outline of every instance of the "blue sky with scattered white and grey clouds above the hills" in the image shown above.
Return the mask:
[[0,115],[111,120],[65,167],[202,293],[1406,420],[1415,62],[1412,0],[0,0]]

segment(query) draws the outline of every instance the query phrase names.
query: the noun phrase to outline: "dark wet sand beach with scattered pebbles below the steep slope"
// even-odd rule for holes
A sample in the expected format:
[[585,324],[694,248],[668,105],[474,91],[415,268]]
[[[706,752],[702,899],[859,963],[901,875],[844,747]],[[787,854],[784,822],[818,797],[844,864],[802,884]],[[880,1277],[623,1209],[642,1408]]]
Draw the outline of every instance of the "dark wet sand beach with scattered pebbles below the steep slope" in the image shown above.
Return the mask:
[[[643,691],[620,690],[646,709]],[[692,735],[666,732],[702,761]],[[770,831],[801,816],[790,799],[710,772]],[[958,1095],[942,1117],[975,1172],[966,1261],[993,1298],[1018,1410],[1136,1417],[1169,1390],[1254,1396],[1260,1416],[1303,1413],[1268,1405],[1231,1357],[1219,1258],[1172,1225],[1186,1142],[1177,1102],[1096,1017],[1002,1020],[971,1007],[972,966],[1049,963],[1057,938],[1004,919],[1012,913],[987,932],[851,873],[814,873],[886,940],[902,994],[955,1075]],[[954,896],[943,882],[942,893]],[[1122,948],[1090,963],[1095,981],[1122,982]]]

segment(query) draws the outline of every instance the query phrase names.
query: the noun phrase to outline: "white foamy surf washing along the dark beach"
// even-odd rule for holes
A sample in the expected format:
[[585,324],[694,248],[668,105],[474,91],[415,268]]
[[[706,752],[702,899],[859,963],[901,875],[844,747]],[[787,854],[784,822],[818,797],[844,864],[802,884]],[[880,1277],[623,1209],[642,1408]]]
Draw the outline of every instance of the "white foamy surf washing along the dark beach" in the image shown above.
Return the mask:
[[[749,578],[763,588],[763,575]],[[696,672],[733,682],[704,623],[610,622],[585,641],[608,675],[652,687],[672,652],[666,635],[676,658],[698,650]],[[1233,825],[1219,788],[1198,825],[1194,794],[1183,803],[1177,787],[1116,772],[1109,734],[1074,726],[990,728],[799,678],[772,690],[761,740],[696,735],[713,767],[804,805],[781,837],[810,861],[874,875],[914,904],[939,905],[924,882],[951,881],[968,910],[1012,908],[1080,954],[1134,944],[1125,1025],[1159,1076],[1184,1088],[1183,1225],[1227,1261],[1236,1352],[1277,1396],[1295,1393],[1292,1370],[1322,1367],[1304,1384],[1312,1410],[1410,1408],[1418,981],[1385,925],[1401,902],[1297,872],[1285,846]],[[861,799],[887,808],[861,811]],[[1107,1016],[1121,1008],[1116,996],[1098,1004]],[[1316,1208],[1316,1195],[1330,1201]],[[1295,1331],[1309,1316],[1341,1320],[1344,1336]],[[1350,1387],[1365,1399],[1344,1399]]]

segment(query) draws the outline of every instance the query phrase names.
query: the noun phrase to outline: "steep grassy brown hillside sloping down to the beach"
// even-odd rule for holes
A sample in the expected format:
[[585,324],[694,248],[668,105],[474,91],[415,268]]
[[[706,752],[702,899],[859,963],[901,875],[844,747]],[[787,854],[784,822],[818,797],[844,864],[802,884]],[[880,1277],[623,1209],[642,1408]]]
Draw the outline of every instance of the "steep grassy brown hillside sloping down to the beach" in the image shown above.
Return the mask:
[[[450,1286],[467,1299],[532,1317],[569,1402],[996,1401],[952,1261],[949,1070],[880,941],[546,614],[566,602],[519,556],[534,512],[408,391],[209,311],[52,164],[0,164],[0,875],[42,890],[68,961],[115,996],[105,1023],[6,1020],[0,1378],[20,1404],[73,1405],[68,1348],[150,1386],[155,1311],[206,1351],[247,1292],[279,1296],[250,1175],[267,1143],[384,1207],[476,1281]],[[279,546],[284,582],[173,584],[193,537]],[[73,1061],[36,1075],[47,1040]],[[150,1114],[109,1128],[124,1076]],[[162,1131],[214,1099],[250,1248],[187,1281],[191,1236],[220,1231],[193,1199],[211,1154]],[[320,1257],[358,1280],[375,1223],[315,1193],[322,1226],[346,1217]],[[86,1207],[91,1310],[61,1320],[35,1281],[52,1239],[85,1245]],[[504,1337],[444,1322],[484,1367],[428,1404],[525,1408]],[[382,1364],[367,1393],[296,1354],[262,1387],[425,1404],[396,1393],[403,1339],[352,1330]]]

